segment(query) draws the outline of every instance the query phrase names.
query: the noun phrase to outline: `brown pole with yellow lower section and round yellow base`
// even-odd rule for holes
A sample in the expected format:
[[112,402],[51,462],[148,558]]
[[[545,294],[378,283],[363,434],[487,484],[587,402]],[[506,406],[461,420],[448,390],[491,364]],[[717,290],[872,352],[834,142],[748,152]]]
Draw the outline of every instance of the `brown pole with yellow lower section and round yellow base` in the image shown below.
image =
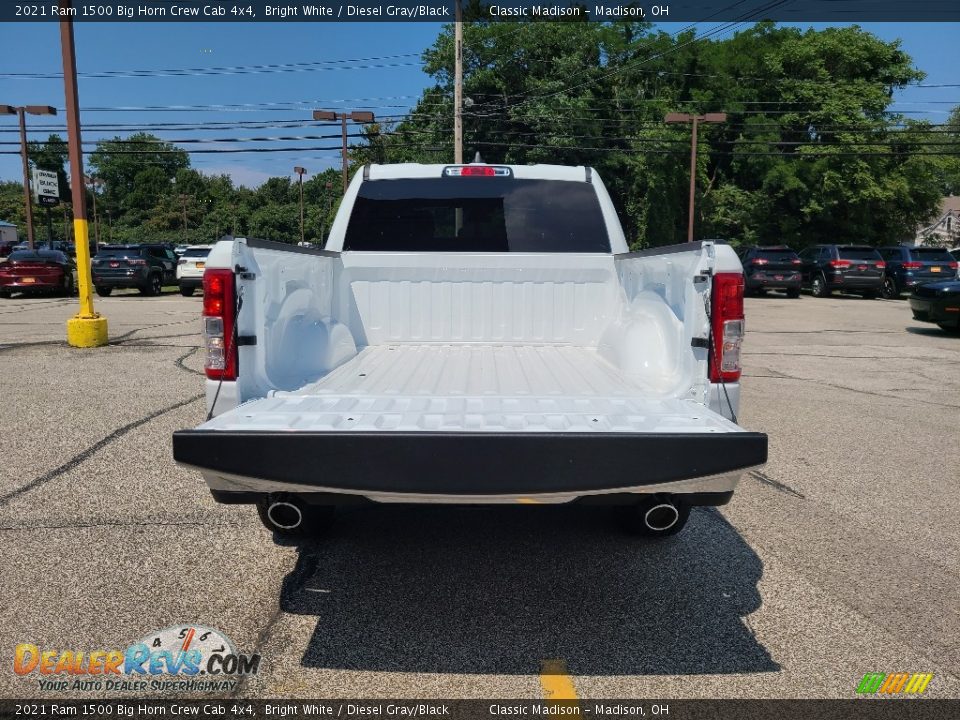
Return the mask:
[[63,89],[67,105],[67,143],[70,149],[70,189],[73,193],[73,234],[77,250],[80,312],[67,320],[67,342],[73,347],[106,345],[107,319],[93,311],[90,277],[90,237],[87,227],[87,190],[83,184],[83,146],[80,141],[80,99],[77,94],[77,57],[73,46],[73,7],[60,0],[60,49],[63,53]]

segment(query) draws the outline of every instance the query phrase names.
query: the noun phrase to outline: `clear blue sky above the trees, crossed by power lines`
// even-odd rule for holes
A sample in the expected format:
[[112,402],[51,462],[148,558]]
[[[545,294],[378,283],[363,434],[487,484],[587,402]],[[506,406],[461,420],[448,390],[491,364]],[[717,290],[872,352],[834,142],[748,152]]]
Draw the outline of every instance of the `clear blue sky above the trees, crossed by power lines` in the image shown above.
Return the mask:
[[[675,32],[684,26],[673,23],[661,27]],[[714,24],[701,23],[698,31],[705,32],[711,27]],[[901,39],[904,50],[927,73],[925,83],[958,82],[960,24],[864,23],[862,27],[885,40]],[[143,123],[306,121],[312,108],[371,109],[381,116],[402,114],[416,102],[423,88],[430,85],[430,78],[421,69],[419,53],[433,42],[439,30],[439,25],[430,23],[77,23],[80,73],[312,63],[296,71],[282,68],[283,72],[254,74],[81,77],[84,139],[133,132],[120,128],[95,130],[97,125],[107,124],[112,128]],[[3,49],[0,104],[63,107],[60,78],[11,77],[17,73],[59,73],[59,43],[57,23],[0,26],[0,48]],[[382,59],[364,60],[366,58]],[[280,107],[271,108],[270,103]],[[897,95],[894,109],[908,113],[909,117],[942,122],[957,104],[960,104],[960,87],[911,87]],[[184,105],[244,107],[178,111],[118,109]],[[51,121],[56,125],[63,122],[62,118],[29,118],[28,127],[35,128],[30,138],[45,139],[50,130],[42,128]],[[0,141],[16,143],[16,128],[15,117],[0,117]],[[170,129],[156,134],[177,140],[331,132],[334,131],[291,126],[286,129],[225,128],[203,134]],[[339,145],[339,142],[332,139],[270,145],[279,149],[284,145]],[[240,146],[223,143],[204,147]],[[3,144],[0,149],[17,150],[18,146]],[[270,176],[292,176],[292,167],[298,164],[311,172],[338,166],[339,152],[194,154],[191,161],[202,172],[228,173],[238,184],[254,186]],[[0,179],[20,179],[21,174],[19,156],[0,155]]]

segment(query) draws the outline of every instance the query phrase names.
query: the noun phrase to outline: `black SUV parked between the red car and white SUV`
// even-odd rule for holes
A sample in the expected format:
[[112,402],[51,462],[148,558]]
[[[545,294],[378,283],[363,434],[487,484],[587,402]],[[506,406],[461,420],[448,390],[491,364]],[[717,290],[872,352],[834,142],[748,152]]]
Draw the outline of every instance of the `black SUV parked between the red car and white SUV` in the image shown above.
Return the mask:
[[114,288],[137,288],[159,295],[164,285],[176,285],[177,256],[168,245],[112,245],[93,258],[93,286],[106,297]]

